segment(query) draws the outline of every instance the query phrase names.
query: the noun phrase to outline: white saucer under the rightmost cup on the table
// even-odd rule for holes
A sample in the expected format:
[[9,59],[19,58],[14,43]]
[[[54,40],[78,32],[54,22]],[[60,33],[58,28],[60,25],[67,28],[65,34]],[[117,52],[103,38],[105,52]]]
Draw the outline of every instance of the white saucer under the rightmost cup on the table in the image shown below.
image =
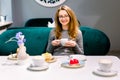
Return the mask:
[[101,71],[100,69],[96,69],[93,71],[93,73],[103,77],[112,77],[117,75],[117,71],[112,71],[112,70],[109,72],[104,72],[104,71]]

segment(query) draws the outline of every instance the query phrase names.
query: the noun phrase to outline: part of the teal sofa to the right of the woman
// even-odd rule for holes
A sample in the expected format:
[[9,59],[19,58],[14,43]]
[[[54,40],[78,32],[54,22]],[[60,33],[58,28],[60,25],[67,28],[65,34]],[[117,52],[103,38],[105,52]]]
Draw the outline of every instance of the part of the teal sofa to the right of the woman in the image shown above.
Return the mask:
[[109,37],[103,32],[89,26],[80,27],[83,34],[85,55],[106,55],[110,49]]

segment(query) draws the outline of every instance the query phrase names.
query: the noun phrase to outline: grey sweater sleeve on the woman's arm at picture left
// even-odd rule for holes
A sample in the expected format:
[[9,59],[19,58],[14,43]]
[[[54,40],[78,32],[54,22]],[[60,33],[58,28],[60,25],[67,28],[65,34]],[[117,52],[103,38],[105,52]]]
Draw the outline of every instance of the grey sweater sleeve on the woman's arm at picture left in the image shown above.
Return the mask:
[[50,34],[49,34],[49,38],[48,38],[48,45],[47,45],[47,49],[46,49],[46,52],[49,52],[49,53],[52,53],[54,52],[54,46],[52,46],[51,42],[52,40],[55,39],[55,36],[54,36],[54,33],[53,33],[53,30],[51,30]]

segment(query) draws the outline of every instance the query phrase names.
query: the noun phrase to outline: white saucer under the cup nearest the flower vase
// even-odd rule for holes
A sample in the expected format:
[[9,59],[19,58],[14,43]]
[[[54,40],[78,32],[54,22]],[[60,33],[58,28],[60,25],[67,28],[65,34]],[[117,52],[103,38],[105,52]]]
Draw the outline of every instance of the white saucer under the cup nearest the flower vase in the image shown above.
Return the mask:
[[38,67],[30,65],[27,69],[30,71],[45,71],[48,68],[49,68],[48,65],[42,65],[42,66],[38,66]]

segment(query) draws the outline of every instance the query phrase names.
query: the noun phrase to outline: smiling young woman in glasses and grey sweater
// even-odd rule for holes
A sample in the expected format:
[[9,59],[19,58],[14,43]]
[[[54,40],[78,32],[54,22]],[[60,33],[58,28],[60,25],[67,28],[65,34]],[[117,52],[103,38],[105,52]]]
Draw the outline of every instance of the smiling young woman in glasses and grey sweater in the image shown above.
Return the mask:
[[[67,38],[65,45],[61,40]],[[51,30],[47,52],[53,55],[84,54],[82,33],[71,8],[64,5],[55,14],[55,29]]]

